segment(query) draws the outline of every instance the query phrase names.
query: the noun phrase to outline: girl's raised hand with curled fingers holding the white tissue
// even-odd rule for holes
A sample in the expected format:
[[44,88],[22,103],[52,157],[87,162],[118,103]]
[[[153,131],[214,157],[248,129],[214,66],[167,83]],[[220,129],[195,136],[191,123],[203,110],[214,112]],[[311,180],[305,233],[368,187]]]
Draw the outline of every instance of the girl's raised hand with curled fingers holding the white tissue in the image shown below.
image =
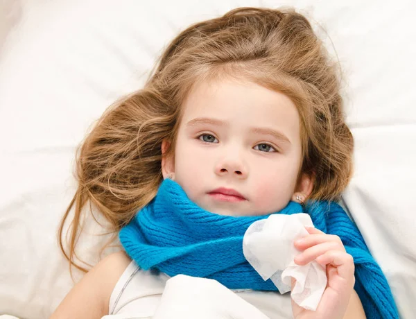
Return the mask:
[[[309,235],[295,241],[295,248],[304,250],[295,257],[295,263],[306,265],[315,260],[327,270],[327,288],[325,288],[316,311],[306,310],[292,300],[295,319],[342,319],[349,298],[354,291],[354,259],[347,254],[338,236],[328,235],[314,227],[306,227]],[[292,279],[292,288],[295,279]]]

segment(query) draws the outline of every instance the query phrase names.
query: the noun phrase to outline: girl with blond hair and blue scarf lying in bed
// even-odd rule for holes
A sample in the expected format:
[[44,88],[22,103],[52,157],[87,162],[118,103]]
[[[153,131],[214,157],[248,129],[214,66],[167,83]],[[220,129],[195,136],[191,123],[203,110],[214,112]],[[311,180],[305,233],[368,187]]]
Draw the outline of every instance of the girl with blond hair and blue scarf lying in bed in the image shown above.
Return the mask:
[[[339,91],[322,42],[293,10],[239,8],[180,33],[144,89],[107,110],[80,148],[62,251],[77,266],[89,200],[128,255],[98,263],[52,317],[151,318],[168,277],[182,273],[246,289],[237,293],[270,318],[397,318],[383,273],[333,202],[352,173]],[[241,249],[252,222],[302,211],[316,228],[295,241],[295,262],[315,260],[328,277],[316,311],[276,293]]]

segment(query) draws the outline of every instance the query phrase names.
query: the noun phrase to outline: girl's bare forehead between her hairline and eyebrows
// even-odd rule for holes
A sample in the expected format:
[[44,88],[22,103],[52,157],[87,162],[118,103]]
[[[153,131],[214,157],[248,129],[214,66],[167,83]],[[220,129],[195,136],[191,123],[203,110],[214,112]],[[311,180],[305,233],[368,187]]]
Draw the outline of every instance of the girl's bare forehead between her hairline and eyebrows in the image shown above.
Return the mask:
[[207,117],[232,128],[278,128],[286,135],[300,135],[300,118],[291,98],[247,80],[222,79],[197,83],[182,105],[181,126]]

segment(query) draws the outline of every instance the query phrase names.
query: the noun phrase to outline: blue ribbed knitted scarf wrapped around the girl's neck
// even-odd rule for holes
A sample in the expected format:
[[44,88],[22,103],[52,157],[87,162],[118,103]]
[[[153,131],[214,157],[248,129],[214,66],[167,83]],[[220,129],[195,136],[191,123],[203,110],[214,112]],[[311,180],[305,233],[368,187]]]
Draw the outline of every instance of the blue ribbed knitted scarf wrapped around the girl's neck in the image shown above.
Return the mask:
[[[354,257],[354,288],[367,318],[399,318],[387,280],[343,208],[335,202],[313,202],[305,208],[289,202],[275,214],[300,212],[309,214],[322,232],[340,236]],[[164,180],[157,196],[121,229],[119,237],[128,255],[145,270],[157,268],[171,277],[184,274],[216,279],[231,289],[277,291],[243,255],[245,230],[268,216],[212,214],[189,200],[177,182]]]

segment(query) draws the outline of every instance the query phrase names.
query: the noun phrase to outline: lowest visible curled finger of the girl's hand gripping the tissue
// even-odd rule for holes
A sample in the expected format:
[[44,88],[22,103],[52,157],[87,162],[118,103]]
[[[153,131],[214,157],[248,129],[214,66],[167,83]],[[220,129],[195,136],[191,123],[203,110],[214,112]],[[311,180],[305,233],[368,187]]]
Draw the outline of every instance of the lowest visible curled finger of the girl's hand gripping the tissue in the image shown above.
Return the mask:
[[354,277],[354,258],[347,252],[339,250],[329,250],[319,256],[316,261],[322,266],[332,265],[336,267],[336,273],[344,279],[352,279]]

